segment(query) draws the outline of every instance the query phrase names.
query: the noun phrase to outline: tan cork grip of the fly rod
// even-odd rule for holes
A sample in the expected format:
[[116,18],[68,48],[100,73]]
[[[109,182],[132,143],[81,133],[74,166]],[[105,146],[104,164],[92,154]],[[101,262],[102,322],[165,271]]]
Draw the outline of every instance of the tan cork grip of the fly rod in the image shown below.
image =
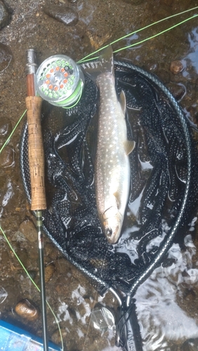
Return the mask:
[[41,133],[41,104],[39,96],[27,96],[28,158],[31,180],[31,210],[46,208],[44,183],[44,146]]

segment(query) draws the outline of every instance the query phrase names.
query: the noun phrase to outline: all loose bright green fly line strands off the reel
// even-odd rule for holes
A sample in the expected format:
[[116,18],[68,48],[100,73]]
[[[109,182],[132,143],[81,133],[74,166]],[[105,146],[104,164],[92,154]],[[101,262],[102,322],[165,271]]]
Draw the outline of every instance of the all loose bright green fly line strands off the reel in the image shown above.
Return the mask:
[[[195,9],[197,9],[197,8],[198,8],[198,6],[196,6],[196,7],[194,7],[194,8],[190,8],[189,10],[186,10],[186,11],[183,11],[183,12],[180,12],[180,13],[176,13],[175,15],[171,15],[171,16],[169,16],[169,17],[163,18],[163,19],[161,19],[161,20],[159,20],[159,21],[157,21],[157,22],[151,23],[150,25],[147,25],[147,26],[145,26],[145,27],[143,27],[143,28],[140,28],[140,29],[136,30],[135,32],[131,32],[131,33],[129,33],[129,34],[126,34],[124,37],[121,37],[121,38],[119,38],[119,39],[117,39],[117,40],[114,40],[114,41],[112,41],[112,43],[110,43],[110,44],[108,44],[108,45],[115,44],[115,43],[117,43],[118,41],[121,41],[122,39],[125,39],[125,38],[127,38],[127,37],[129,37],[129,36],[131,36],[131,35],[133,35],[133,34],[136,34],[136,33],[140,32],[140,31],[142,31],[142,30],[144,30],[144,29],[147,29],[147,28],[149,28],[149,27],[152,27],[153,25],[157,25],[159,22],[163,22],[163,21],[165,21],[165,20],[169,20],[170,18],[176,17],[176,16],[178,16],[178,15],[182,15],[182,14],[187,13],[187,12],[189,12],[189,11],[193,11],[193,10],[195,10]],[[158,37],[159,35],[164,34],[165,32],[168,32],[169,30],[171,30],[171,29],[173,29],[173,28],[175,28],[175,27],[178,27],[178,25],[182,25],[183,23],[185,23],[185,22],[187,22],[188,20],[191,20],[192,18],[195,18],[195,17],[197,17],[197,16],[198,16],[198,15],[193,15],[193,16],[191,16],[190,18],[187,18],[186,20],[183,20],[183,21],[177,23],[176,25],[173,25],[173,26],[171,26],[171,27],[169,27],[169,28],[167,28],[167,29],[164,29],[163,31],[161,31],[161,32],[159,32],[159,33],[157,33],[157,34],[154,34],[154,35],[151,36],[151,37],[148,37],[148,38],[146,38],[146,39],[143,39],[143,40],[141,40],[141,41],[138,41],[138,42],[135,43],[135,44],[131,44],[131,45],[129,45],[129,46],[124,46],[124,48],[119,48],[118,50],[114,51],[114,53],[117,53],[117,52],[119,52],[119,51],[121,51],[121,50],[124,50],[124,49],[126,49],[126,48],[131,48],[132,46],[136,46],[136,45],[138,45],[138,44],[142,44],[143,42],[145,42],[145,41],[147,41],[147,40],[150,40],[150,39],[153,39],[153,38],[155,38],[155,37]],[[103,48],[106,48],[108,45],[103,46]],[[95,53],[98,53],[98,52],[101,51],[103,48],[100,48],[100,49],[98,49],[97,51],[95,51],[95,52],[93,52],[93,53],[91,53],[91,54],[89,54],[89,55],[86,55],[84,58],[82,58],[81,60],[79,60],[77,63],[81,63],[81,62],[85,62],[85,61],[88,61],[88,60],[93,60],[93,59],[95,59],[95,58],[90,58],[90,56],[95,55]],[[80,97],[81,97],[81,95],[80,95]],[[79,100],[78,100],[78,101],[79,101]],[[78,101],[77,101],[77,102],[78,102]],[[76,104],[75,104],[75,105],[76,105]],[[16,128],[18,128],[18,125],[20,124],[20,121],[22,120],[22,117],[24,117],[24,115],[25,115],[26,112],[27,112],[27,110],[25,110],[25,112],[22,113],[22,116],[21,116],[20,119],[18,120],[17,124],[15,124],[15,127],[13,128],[13,131],[12,131],[11,134],[8,136],[8,138],[7,138],[6,142],[4,143],[4,145],[1,147],[1,149],[0,149],[0,154],[1,154],[1,152],[4,150],[4,147],[6,147],[6,145],[7,145],[7,144],[9,143],[9,141],[11,140],[11,137],[12,137],[13,133],[15,132]],[[13,249],[13,246],[11,246],[11,243],[10,243],[10,241],[8,240],[8,238],[6,237],[6,234],[5,234],[4,230],[2,229],[1,225],[0,225],[0,230],[1,230],[1,233],[4,235],[4,238],[5,238],[5,240],[6,240],[7,244],[8,244],[8,246],[10,247],[11,251],[13,251],[13,254],[15,255],[15,258],[17,258],[18,262],[19,262],[20,265],[22,266],[22,269],[25,271],[25,273],[26,273],[27,276],[29,277],[29,279],[30,279],[30,281],[32,282],[32,284],[34,284],[35,288],[40,292],[39,286],[37,286],[37,284],[34,282],[34,280],[32,279],[32,277],[30,276],[29,272],[27,272],[27,269],[26,269],[25,266],[22,264],[22,262],[21,262],[20,258],[18,257],[17,253],[15,253],[15,250]],[[60,340],[61,340],[62,351],[63,351],[62,333],[61,333],[61,330],[60,330],[60,325],[59,325],[58,319],[57,319],[57,317],[55,316],[55,313],[53,312],[53,310],[52,310],[52,308],[51,308],[51,305],[49,305],[49,303],[48,303],[47,300],[46,300],[46,304],[48,305],[49,309],[51,310],[51,313],[53,314],[53,317],[55,318],[55,322],[56,322],[57,325],[58,325],[58,331],[59,331],[59,333],[60,333]]]

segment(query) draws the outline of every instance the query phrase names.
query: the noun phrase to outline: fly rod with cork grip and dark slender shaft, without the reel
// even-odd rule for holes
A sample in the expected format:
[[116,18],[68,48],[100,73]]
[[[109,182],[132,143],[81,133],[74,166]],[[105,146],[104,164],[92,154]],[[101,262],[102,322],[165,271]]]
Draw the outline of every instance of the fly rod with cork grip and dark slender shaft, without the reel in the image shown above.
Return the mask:
[[34,75],[37,71],[34,49],[27,50],[26,78],[27,78],[27,126],[28,126],[28,159],[31,183],[31,210],[37,218],[39,271],[41,284],[41,311],[44,351],[48,351],[48,333],[46,318],[46,289],[44,271],[44,237],[42,234],[42,210],[46,209],[46,191],[44,183],[44,144],[41,133],[41,105],[42,99],[36,96]]

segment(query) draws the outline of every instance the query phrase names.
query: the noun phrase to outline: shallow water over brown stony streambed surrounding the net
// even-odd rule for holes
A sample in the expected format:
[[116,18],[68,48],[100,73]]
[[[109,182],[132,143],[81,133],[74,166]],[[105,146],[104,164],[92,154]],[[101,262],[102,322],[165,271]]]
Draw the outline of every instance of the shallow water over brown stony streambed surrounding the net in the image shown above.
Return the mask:
[[[51,1],[52,3],[58,1]],[[25,110],[25,51],[36,48],[39,62],[56,53],[79,60],[95,48],[124,36],[135,29],[198,5],[197,1],[151,0],[134,4],[134,1],[77,0],[67,2],[79,13],[74,27],[49,18],[43,12],[45,1],[6,0],[12,9],[10,25],[0,31],[1,43],[13,54],[9,66],[0,72],[0,141],[6,140],[13,126]],[[119,13],[119,15],[117,15]],[[195,12],[194,12],[195,13]],[[187,14],[169,22],[151,27],[114,45],[121,48],[160,32],[166,27],[187,18]],[[157,74],[174,95],[188,117],[197,126],[197,69],[198,69],[197,18],[186,22],[171,32],[152,39],[138,48],[121,51],[117,58],[128,58],[134,64]],[[170,71],[173,60],[181,60],[184,69],[180,74]],[[182,91],[180,93],[180,89]],[[37,231],[32,227],[34,217],[22,187],[19,167],[19,143],[22,124],[15,131],[9,145],[1,154],[0,213],[1,226],[6,231],[18,256],[39,283]],[[135,213],[136,214],[136,213]],[[185,238],[185,247],[174,244],[169,258],[175,258],[171,267],[159,267],[140,286],[136,305],[144,350],[190,350],[183,346],[185,340],[198,338],[198,256],[197,227],[194,220]],[[192,234],[192,235],[191,235]],[[192,240],[193,239],[193,240]],[[39,293],[29,282],[25,272],[0,236],[1,318],[41,335],[41,322],[26,322],[14,312],[15,304],[29,298],[39,305]],[[68,263],[46,238],[46,265],[50,266],[50,279],[46,282],[48,302],[60,321],[65,349],[68,351],[119,350],[114,346],[113,331],[103,332],[89,325],[93,305],[102,302],[117,307],[111,293],[101,298],[87,279]],[[14,287],[14,288],[13,288]],[[48,311],[48,331],[51,340],[59,342],[58,327]],[[195,349],[194,349],[195,350]]]

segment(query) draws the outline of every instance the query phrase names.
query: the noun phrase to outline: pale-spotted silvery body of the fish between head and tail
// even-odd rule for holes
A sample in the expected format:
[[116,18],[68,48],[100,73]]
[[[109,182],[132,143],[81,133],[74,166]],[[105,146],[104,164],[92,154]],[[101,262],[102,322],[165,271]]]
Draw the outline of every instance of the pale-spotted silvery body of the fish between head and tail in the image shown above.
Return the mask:
[[114,88],[114,76],[101,74],[98,140],[95,163],[95,194],[99,218],[119,199],[124,216],[130,185],[130,164],[124,148],[127,140],[126,120]]

